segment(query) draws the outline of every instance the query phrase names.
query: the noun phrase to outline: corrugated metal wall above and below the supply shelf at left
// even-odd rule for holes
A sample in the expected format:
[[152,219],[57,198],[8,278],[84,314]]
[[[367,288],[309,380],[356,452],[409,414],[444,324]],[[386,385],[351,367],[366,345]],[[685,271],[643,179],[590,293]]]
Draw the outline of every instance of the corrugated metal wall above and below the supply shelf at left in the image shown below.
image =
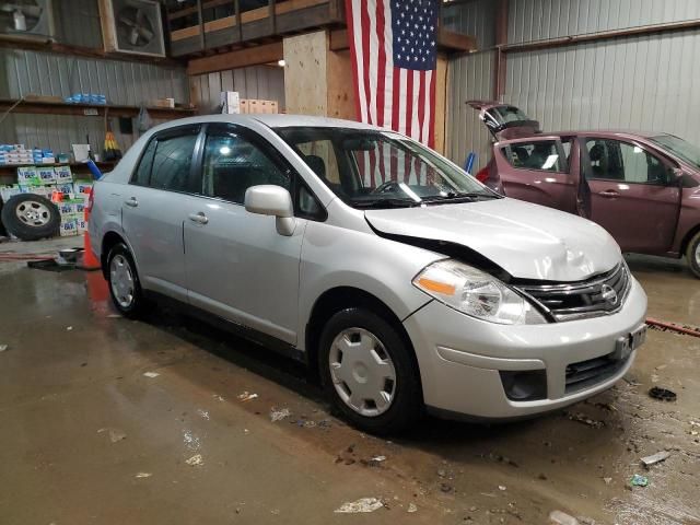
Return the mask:
[[[186,79],[184,68],[0,49],[0,98],[80,92],[104,93],[112,104],[141,105],[168,96],[189,102]],[[101,117],[14,114],[0,125],[0,141],[69,152],[71,143],[90,135],[94,151],[102,151],[104,128]],[[117,140],[126,150],[135,137],[117,132]]]

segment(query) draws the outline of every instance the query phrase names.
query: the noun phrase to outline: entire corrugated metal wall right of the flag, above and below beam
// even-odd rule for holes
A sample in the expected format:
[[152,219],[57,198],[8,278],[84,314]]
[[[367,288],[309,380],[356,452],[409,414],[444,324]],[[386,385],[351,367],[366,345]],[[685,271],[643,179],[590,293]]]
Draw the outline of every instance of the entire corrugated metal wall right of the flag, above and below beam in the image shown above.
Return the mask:
[[[475,9],[468,2],[451,9]],[[469,5],[468,4],[472,4]],[[478,14],[478,13],[481,14]],[[483,16],[477,9],[477,16]],[[602,31],[700,19],[697,0],[510,0],[508,44],[588,35]],[[486,43],[485,43],[486,44]],[[508,52],[503,102],[538,119],[545,130],[642,129],[666,131],[700,142],[700,30],[606,38],[550,49]],[[485,63],[485,61],[487,63]],[[462,57],[451,63],[452,104],[459,116],[468,97],[493,88],[495,52]],[[476,96],[479,95],[479,96]],[[490,92],[489,98],[495,93]],[[679,108],[682,108],[679,110]],[[483,156],[483,126],[475,119],[451,121],[450,155]]]

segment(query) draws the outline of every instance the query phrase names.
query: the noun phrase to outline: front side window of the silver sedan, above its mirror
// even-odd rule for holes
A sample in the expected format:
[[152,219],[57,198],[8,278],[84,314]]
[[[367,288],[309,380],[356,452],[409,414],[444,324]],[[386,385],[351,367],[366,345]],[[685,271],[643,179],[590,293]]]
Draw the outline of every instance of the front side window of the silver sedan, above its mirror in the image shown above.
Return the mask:
[[291,174],[280,170],[262,150],[234,131],[209,133],[205,147],[205,195],[244,203],[250,186],[273,184],[291,189]]

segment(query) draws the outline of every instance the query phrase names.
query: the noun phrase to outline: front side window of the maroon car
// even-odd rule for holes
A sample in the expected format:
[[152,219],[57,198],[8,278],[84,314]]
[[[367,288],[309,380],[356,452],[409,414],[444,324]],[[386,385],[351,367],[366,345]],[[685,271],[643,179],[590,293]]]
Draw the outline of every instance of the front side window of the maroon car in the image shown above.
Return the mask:
[[668,184],[668,167],[639,145],[610,139],[588,139],[591,161],[587,178],[630,184]]

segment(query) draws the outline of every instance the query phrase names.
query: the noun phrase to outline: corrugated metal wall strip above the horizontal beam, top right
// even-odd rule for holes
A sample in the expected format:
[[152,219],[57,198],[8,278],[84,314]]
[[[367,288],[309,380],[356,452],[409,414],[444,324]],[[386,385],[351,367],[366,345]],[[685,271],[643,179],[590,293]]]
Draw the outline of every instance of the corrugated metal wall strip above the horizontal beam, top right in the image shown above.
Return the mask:
[[508,9],[510,44],[700,18],[698,0],[510,0]]

